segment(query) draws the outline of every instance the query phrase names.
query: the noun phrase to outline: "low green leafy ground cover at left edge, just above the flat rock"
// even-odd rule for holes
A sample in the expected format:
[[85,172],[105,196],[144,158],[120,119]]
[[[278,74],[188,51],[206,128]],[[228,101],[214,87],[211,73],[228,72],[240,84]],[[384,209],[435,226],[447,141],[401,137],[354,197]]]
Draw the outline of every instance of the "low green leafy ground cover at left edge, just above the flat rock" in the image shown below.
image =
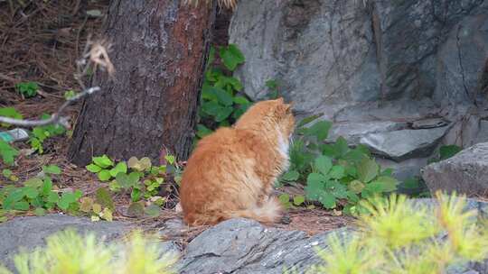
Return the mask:
[[44,215],[46,210],[52,209],[77,212],[82,193],[80,190],[55,189],[52,176],[60,174],[61,169],[57,166],[43,166],[42,173],[23,182],[23,187],[6,185],[0,189],[0,208],[5,211],[33,210],[35,215]]

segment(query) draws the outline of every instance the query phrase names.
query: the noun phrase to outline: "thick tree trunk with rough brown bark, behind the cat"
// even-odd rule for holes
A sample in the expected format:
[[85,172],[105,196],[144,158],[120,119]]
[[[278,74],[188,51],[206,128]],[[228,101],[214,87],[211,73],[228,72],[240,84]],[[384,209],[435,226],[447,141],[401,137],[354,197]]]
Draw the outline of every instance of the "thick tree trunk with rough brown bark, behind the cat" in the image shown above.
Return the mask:
[[188,157],[214,17],[205,1],[111,1],[104,37],[116,75],[95,81],[102,90],[83,103],[73,163],[101,154],[157,160],[164,147]]

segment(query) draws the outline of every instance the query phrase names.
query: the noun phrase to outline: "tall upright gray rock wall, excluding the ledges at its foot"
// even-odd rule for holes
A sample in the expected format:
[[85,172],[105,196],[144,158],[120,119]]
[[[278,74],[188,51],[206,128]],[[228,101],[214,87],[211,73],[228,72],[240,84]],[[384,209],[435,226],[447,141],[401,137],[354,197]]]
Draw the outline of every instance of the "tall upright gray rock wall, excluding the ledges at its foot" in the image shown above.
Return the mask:
[[277,79],[297,110],[463,103],[474,100],[488,58],[487,12],[480,0],[241,1],[230,42],[247,58],[238,72],[246,93],[265,96],[266,80]]

